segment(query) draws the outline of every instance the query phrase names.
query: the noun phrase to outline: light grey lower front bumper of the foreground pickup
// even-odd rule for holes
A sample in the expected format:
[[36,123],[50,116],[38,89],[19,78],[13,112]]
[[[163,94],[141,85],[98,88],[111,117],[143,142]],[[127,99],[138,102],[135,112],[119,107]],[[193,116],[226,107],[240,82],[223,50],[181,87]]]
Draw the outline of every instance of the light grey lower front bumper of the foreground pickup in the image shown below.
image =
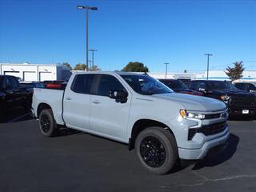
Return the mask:
[[216,150],[218,146],[221,146],[218,147],[218,150],[223,150],[229,138],[230,132],[226,130],[225,134],[223,134],[221,137],[205,142],[200,149],[178,148],[179,158],[188,160],[202,159],[206,156],[206,154]]

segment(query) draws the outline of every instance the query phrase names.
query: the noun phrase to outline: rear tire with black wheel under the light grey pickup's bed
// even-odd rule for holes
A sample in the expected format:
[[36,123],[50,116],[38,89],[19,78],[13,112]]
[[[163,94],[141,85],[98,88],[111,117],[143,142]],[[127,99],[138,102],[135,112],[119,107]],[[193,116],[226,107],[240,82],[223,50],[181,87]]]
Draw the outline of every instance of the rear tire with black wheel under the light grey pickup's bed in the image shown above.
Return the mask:
[[58,134],[58,125],[54,120],[53,111],[50,109],[42,110],[39,114],[39,127],[46,137],[53,137]]

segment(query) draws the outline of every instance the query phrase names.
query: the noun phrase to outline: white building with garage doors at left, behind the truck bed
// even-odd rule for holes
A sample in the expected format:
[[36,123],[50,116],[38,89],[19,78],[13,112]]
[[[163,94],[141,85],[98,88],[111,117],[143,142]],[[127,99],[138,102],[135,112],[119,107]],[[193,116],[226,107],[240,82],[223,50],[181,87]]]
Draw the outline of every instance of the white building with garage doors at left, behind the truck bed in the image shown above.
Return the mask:
[[70,70],[55,64],[0,63],[0,74],[13,75],[24,82],[43,82],[67,80],[71,73]]

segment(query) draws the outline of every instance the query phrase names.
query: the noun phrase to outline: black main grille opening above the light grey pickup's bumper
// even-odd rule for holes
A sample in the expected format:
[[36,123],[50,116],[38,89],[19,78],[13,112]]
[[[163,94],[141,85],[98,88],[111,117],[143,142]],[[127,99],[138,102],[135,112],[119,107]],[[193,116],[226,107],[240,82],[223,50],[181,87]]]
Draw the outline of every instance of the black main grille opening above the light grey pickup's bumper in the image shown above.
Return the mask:
[[197,133],[202,133],[206,136],[221,133],[222,131],[226,130],[226,127],[226,122],[219,122],[208,126],[202,126],[200,128],[189,129],[188,140],[192,140],[194,135]]

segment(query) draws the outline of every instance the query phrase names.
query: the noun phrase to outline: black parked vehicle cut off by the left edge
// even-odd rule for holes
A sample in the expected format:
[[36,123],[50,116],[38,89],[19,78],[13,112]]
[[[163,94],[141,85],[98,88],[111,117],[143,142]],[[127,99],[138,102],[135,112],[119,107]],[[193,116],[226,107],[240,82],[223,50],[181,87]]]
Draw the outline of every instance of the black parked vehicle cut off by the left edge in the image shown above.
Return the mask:
[[30,108],[32,94],[26,88],[19,86],[17,78],[10,75],[0,75],[0,116],[14,106]]

